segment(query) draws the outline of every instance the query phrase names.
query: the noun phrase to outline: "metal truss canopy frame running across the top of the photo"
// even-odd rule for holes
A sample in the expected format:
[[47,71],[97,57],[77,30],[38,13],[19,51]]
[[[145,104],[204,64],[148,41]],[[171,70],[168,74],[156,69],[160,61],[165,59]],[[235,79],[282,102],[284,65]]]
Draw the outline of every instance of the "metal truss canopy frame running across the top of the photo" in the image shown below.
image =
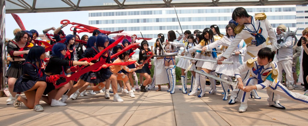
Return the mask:
[[[164,7],[197,7],[197,6],[264,6],[264,5],[302,5],[308,4],[308,0],[196,0],[196,1],[184,1],[184,0],[128,0],[131,2],[144,2],[145,4],[125,4],[126,0],[120,2],[119,0],[113,0],[116,4],[113,5],[101,5],[101,6],[79,6],[81,0],[77,1],[77,4],[72,0],[61,0],[63,5],[68,7],[52,7],[44,8],[36,4],[37,0],[33,0],[32,3],[26,2],[26,0],[5,0],[6,3],[19,6],[21,9],[10,8],[6,6],[6,14],[10,13],[38,13],[38,12],[61,12],[61,11],[91,11],[91,10],[115,10],[115,9],[135,9],[135,8],[164,8]],[[28,0],[29,1],[29,0]],[[153,4],[152,2],[158,2]],[[59,2],[59,1],[58,1]],[[88,0],[87,2],[91,2]],[[98,1],[96,1],[98,2]],[[100,2],[100,1],[99,1]],[[103,1],[102,1],[103,2]],[[63,6],[62,5],[62,6]]]

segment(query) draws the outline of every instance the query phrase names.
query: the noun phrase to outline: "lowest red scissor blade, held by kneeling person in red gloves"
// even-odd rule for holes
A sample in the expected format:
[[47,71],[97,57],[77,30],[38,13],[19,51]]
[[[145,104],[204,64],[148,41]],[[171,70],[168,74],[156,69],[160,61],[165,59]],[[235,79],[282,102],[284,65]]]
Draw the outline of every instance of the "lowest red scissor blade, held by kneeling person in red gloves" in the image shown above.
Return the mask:
[[63,75],[63,74],[60,74],[59,77],[64,78],[64,79],[65,79],[65,82],[60,83],[59,85],[54,84],[54,85],[55,85],[55,89],[57,89],[57,88],[59,88],[59,87],[65,85],[65,84],[67,84],[67,83],[68,83],[69,81],[71,81],[71,80],[74,80],[74,81],[77,82],[77,81],[78,81],[78,78],[79,78],[82,74],[88,73],[88,72],[90,72],[90,71],[93,70],[93,69],[97,69],[97,68],[101,67],[101,66],[104,65],[104,64],[106,64],[106,59],[101,58],[101,60],[100,60],[99,62],[97,62],[97,63],[95,63],[95,64],[93,64],[93,65],[90,65],[90,66],[88,66],[88,67],[85,68],[85,69],[81,69],[81,70],[79,70],[79,71],[76,72],[76,73],[73,73],[73,74],[71,75],[71,77],[67,77],[67,76],[65,76],[65,75]]

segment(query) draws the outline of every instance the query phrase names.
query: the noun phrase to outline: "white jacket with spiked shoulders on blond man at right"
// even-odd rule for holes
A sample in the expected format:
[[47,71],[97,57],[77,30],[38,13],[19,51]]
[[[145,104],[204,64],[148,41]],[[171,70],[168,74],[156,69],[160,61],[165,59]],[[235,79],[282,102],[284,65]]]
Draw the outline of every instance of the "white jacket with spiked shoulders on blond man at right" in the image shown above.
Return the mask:
[[293,60],[293,37],[288,36],[286,38],[286,41],[283,41],[283,35],[280,34],[277,36],[277,43],[280,42],[280,47],[276,53],[276,57],[278,58],[278,61],[284,61],[284,60]]

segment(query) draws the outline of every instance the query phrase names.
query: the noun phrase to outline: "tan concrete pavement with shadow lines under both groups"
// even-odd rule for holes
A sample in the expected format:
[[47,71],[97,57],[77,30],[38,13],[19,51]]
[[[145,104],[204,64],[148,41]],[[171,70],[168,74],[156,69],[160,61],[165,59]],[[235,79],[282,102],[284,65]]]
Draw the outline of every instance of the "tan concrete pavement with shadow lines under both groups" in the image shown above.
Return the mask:
[[[6,105],[8,97],[0,97],[0,125],[307,125],[307,105],[281,98],[286,110],[269,107],[266,90],[258,90],[262,99],[249,99],[247,111],[239,113],[240,103],[229,105],[222,100],[221,86],[217,86],[218,94],[209,94],[211,88],[206,86],[202,98],[182,94],[180,87],[176,87],[175,94],[167,92],[167,86],[162,86],[162,91],[155,91],[157,87],[147,93],[137,90],[136,98],[119,93],[124,103],[113,102],[112,94],[105,99],[101,93],[68,99],[64,107],[51,107],[41,101],[43,112],[24,105],[14,108]],[[301,87],[293,92],[304,94]]]

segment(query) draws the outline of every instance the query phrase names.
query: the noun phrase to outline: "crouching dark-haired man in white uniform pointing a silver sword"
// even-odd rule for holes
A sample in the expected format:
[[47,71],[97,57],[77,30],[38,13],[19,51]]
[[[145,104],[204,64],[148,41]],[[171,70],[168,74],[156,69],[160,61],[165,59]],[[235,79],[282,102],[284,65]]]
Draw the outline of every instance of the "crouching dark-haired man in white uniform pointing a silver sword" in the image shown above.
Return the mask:
[[[262,48],[258,52],[258,57],[249,59],[235,70],[234,73],[235,78],[237,78],[238,81],[238,88],[245,91],[242,95],[241,106],[238,110],[239,112],[246,111],[247,100],[249,97],[249,95],[246,95],[246,93],[253,89],[266,89],[266,92],[269,95],[267,101],[269,102],[270,107],[286,109],[279,103],[280,95],[298,103],[308,104],[308,96],[291,92],[279,82],[277,79],[277,64],[272,62],[274,55],[275,52],[272,52],[270,48]],[[248,70],[250,70],[250,78],[242,82],[240,73]]]

